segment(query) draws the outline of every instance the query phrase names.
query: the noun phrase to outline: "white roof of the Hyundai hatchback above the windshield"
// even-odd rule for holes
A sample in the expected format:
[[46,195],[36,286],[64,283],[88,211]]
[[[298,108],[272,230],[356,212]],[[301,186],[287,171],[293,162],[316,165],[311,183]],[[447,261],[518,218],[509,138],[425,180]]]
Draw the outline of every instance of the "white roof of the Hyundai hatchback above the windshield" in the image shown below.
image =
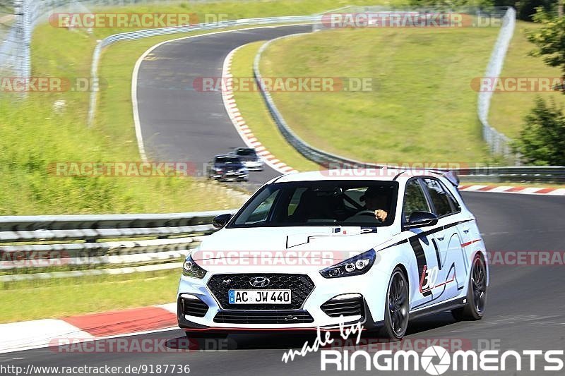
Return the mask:
[[345,180],[367,180],[367,181],[407,181],[413,176],[444,176],[445,171],[434,171],[426,169],[391,169],[383,167],[380,169],[334,169],[299,172],[286,174],[275,179],[277,183],[292,181],[345,181]]

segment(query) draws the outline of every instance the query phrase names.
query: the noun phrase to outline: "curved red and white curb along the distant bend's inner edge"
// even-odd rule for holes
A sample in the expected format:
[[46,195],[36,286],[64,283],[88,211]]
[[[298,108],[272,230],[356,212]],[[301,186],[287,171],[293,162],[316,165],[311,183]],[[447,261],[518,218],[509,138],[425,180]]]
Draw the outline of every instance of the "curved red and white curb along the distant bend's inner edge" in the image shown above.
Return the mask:
[[225,110],[227,111],[227,115],[230,116],[230,119],[232,120],[237,133],[239,133],[239,136],[245,142],[245,145],[247,145],[248,147],[254,147],[257,154],[261,158],[263,158],[268,166],[275,169],[275,171],[280,172],[281,174],[290,174],[292,172],[297,172],[291,166],[280,162],[279,159],[271,154],[266,149],[266,147],[264,147],[261,142],[257,140],[255,135],[253,134],[253,131],[251,131],[249,126],[247,126],[247,124],[245,123],[245,120],[243,119],[242,114],[239,112],[239,109],[237,109],[237,104],[234,98],[233,85],[231,80],[227,79],[233,77],[233,75],[231,74],[232,59],[235,51],[237,51],[241,47],[243,46],[232,49],[232,51],[227,54],[222,68],[222,99],[224,102]]

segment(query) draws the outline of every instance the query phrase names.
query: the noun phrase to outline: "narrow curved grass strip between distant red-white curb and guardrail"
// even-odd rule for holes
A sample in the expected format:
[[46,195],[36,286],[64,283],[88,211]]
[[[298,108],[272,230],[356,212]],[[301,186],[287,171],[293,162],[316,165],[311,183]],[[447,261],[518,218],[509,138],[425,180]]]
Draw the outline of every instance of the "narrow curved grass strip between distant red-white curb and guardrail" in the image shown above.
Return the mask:
[[[235,52],[231,72],[234,78],[253,77],[253,61],[257,50],[263,43],[246,44],[246,46]],[[282,133],[280,133],[273,122],[273,118],[270,116],[258,91],[235,91],[234,99],[247,126],[251,128],[258,140],[275,157],[299,171],[319,169],[318,164],[303,157],[302,154],[286,142]]]

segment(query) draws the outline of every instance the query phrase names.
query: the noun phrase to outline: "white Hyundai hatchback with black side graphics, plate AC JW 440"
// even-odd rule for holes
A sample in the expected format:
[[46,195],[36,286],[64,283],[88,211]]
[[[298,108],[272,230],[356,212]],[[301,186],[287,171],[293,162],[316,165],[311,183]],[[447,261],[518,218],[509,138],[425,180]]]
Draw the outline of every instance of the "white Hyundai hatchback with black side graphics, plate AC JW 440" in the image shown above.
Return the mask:
[[179,327],[335,329],[390,339],[408,321],[484,313],[489,273],[453,175],[393,169],[289,174],[261,187],[186,257]]

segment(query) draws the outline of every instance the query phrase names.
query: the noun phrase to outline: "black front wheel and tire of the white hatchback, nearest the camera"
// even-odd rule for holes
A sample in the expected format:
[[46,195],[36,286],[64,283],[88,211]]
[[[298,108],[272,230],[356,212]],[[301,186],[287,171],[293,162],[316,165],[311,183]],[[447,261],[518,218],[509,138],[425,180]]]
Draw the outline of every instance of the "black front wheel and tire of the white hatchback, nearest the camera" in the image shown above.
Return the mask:
[[400,267],[394,269],[388,282],[384,308],[384,327],[381,336],[391,341],[400,341],[408,328],[408,280]]

